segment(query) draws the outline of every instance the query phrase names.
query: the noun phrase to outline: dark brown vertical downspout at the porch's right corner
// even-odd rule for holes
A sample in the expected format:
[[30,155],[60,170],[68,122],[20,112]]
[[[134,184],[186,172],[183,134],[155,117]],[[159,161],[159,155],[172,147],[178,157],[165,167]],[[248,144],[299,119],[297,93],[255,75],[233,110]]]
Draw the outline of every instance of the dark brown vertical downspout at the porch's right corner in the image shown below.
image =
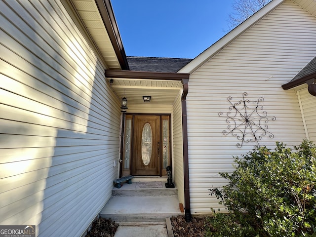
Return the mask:
[[190,185],[189,185],[189,153],[188,153],[188,123],[187,123],[187,101],[186,97],[189,91],[189,79],[182,79],[183,93],[181,97],[182,107],[182,138],[183,138],[183,173],[184,173],[184,209],[185,220],[192,220],[190,210]]

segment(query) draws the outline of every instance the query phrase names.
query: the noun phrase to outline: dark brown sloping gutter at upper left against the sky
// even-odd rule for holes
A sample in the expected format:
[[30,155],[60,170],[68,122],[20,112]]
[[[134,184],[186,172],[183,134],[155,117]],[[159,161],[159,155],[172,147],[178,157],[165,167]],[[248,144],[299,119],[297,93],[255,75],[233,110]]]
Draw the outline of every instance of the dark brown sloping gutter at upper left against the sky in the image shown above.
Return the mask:
[[114,11],[110,0],[95,0],[102,21],[110,37],[114,51],[118,57],[118,62],[122,70],[129,70],[124,46],[118,31],[118,24],[116,22]]

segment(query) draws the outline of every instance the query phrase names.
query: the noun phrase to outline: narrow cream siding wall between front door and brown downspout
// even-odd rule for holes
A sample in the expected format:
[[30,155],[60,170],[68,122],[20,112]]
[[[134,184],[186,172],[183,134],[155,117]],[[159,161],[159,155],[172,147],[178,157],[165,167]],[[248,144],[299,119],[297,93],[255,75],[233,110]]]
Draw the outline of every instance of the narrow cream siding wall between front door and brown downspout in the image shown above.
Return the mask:
[[181,93],[173,104],[172,114],[173,134],[173,180],[178,189],[179,202],[184,205],[184,170],[183,170],[183,134],[182,134],[182,107]]

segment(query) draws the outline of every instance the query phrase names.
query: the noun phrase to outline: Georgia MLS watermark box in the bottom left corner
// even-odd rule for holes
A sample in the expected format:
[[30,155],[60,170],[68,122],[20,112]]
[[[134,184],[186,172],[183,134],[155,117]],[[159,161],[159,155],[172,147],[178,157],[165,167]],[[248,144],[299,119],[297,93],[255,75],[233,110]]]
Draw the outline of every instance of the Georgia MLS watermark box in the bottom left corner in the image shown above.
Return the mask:
[[35,237],[35,226],[0,226],[0,237]]

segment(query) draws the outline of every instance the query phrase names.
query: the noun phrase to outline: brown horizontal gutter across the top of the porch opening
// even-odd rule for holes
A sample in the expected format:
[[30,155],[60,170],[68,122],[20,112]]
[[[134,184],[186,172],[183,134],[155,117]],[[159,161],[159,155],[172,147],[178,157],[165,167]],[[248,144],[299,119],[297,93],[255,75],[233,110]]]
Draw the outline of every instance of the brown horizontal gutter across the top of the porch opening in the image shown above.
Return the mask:
[[160,79],[160,80],[179,80],[189,79],[188,73],[160,73],[160,72],[140,72],[127,70],[106,70],[107,78],[127,78],[127,79]]

